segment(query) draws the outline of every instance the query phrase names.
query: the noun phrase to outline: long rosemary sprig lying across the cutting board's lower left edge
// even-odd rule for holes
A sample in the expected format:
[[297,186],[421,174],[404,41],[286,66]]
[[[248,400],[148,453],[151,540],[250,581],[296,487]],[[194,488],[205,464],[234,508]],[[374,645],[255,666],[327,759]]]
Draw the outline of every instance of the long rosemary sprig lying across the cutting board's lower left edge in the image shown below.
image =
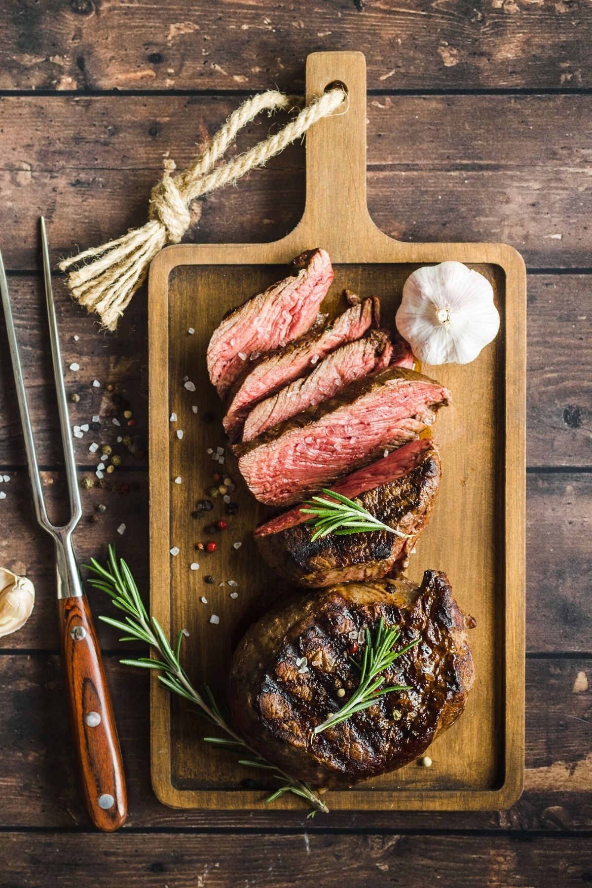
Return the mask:
[[125,622],[114,620],[113,617],[99,616],[99,620],[107,622],[115,629],[122,630],[124,635],[120,641],[142,641],[146,645],[153,648],[157,654],[157,659],[150,657],[138,657],[137,660],[122,660],[120,662],[125,666],[138,666],[143,669],[159,670],[158,676],[162,684],[172,693],[184,697],[185,700],[193,703],[201,716],[207,718],[213,725],[216,725],[221,731],[224,731],[225,737],[204,737],[203,739],[216,746],[237,753],[241,758],[240,765],[248,767],[263,768],[269,771],[271,776],[280,781],[279,789],[272,792],[269,798],[265,799],[265,803],[269,804],[276,798],[279,798],[285,792],[291,792],[295,796],[306,799],[312,805],[312,811],[309,817],[313,817],[317,811],[328,813],[328,807],[321,801],[314,789],[304,781],[296,780],[276,765],[272,765],[261,757],[255,749],[251,749],[241,734],[238,733],[229,720],[225,718],[220,707],[217,705],[209,686],[202,685],[198,691],[191,683],[185,670],[181,666],[180,654],[181,645],[185,635],[188,632],[182,629],[178,633],[174,647],[170,645],[169,639],[166,637],[162,626],[154,618],[146,613],[146,608],[139,596],[138,586],[130,573],[130,568],[123,559],[117,559],[115,556],[114,546],[108,547],[107,568],[102,567],[99,561],[91,559],[91,564],[86,565],[95,577],[89,580],[94,589],[105,592],[112,600],[115,607],[123,611],[125,614]]

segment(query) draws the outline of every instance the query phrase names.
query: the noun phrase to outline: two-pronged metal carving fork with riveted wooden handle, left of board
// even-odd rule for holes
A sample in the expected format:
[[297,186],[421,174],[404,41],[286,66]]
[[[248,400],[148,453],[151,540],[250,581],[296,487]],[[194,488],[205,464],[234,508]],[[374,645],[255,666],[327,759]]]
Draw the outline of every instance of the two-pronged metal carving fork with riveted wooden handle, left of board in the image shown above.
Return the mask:
[[115,728],[111,698],[103,669],[99,641],[92,623],[91,608],[83,591],[72,531],[83,510],[76,480],[74,448],[67,414],[66,389],[59,349],[51,267],[45,220],[41,219],[43,274],[50,327],[53,375],[58,394],[59,426],[66,462],[67,489],[71,518],[63,527],[51,524],[45,509],[43,488],[36,458],[35,441],[28,411],[27,392],[20,366],[8,282],[0,253],[0,290],[12,360],[12,370],[19,402],[27,451],[28,474],[33,489],[36,518],[43,530],[53,537],[56,547],[56,575],[61,662],[67,693],[72,743],[82,782],[84,802],[91,821],[99,829],[119,829],[127,817],[127,797],[123,775],[122,754]]

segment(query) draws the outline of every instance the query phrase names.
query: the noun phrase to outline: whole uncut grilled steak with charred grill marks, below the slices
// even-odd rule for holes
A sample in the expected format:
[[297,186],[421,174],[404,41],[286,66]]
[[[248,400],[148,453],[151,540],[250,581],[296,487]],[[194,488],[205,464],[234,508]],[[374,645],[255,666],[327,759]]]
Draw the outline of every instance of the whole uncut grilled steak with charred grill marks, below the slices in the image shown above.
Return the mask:
[[[383,673],[375,705],[319,734],[359,685],[359,662],[380,618],[398,625],[398,646],[421,638]],[[465,618],[446,575],[421,586],[344,583],[293,596],[251,626],[231,663],[227,698],[234,724],[258,753],[299,780],[351,786],[421,756],[462,714],[474,681]],[[304,658],[304,659],[303,659]],[[343,698],[337,690],[343,688]]]

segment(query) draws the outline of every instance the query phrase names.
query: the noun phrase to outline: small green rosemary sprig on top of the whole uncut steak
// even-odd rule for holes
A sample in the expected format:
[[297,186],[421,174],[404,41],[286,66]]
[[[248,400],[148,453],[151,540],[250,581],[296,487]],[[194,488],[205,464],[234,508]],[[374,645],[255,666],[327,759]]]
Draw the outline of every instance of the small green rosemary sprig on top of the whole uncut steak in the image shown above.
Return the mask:
[[376,699],[383,694],[410,690],[409,685],[381,687],[384,681],[381,673],[388,669],[402,654],[405,654],[421,641],[421,638],[416,638],[405,647],[394,650],[393,647],[399,640],[400,634],[399,626],[385,628],[383,617],[380,618],[378,623],[374,640],[370,636],[370,631],[366,630],[366,646],[364,647],[361,665],[350,657],[351,662],[359,668],[359,686],[351,694],[350,699],[344,704],[342,709],[338,712],[332,712],[322,725],[315,727],[313,733],[321,733],[321,731],[325,731],[328,727],[339,725],[340,722],[350,718],[355,712],[367,710],[369,706],[374,706]]

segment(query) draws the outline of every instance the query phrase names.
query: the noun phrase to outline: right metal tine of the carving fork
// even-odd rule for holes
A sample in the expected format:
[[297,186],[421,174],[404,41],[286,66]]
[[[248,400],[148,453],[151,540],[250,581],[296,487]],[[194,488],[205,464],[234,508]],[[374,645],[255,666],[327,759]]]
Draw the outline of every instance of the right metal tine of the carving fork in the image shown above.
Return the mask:
[[58,399],[59,428],[61,431],[62,447],[64,449],[64,462],[66,464],[66,477],[68,496],[70,498],[71,518],[68,522],[70,529],[78,524],[82,518],[83,510],[80,503],[80,491],[76,479],[76,464],[72,435],[70,433],[70,417],[67,412],[66,385],[64,384],[64,371],[62,368],[61,349],[59,348],[58,320],[56,318],[55,302],[53,301],[53,288],[51,287],[50,251],[45,230],[45,219],[41,217],[41,244],[43,251],[43,277],[45,279],[45,300],[47,303],[47,318],[50,326],[51,360],[53,361],[53,377],[56,384],[56,396]]

